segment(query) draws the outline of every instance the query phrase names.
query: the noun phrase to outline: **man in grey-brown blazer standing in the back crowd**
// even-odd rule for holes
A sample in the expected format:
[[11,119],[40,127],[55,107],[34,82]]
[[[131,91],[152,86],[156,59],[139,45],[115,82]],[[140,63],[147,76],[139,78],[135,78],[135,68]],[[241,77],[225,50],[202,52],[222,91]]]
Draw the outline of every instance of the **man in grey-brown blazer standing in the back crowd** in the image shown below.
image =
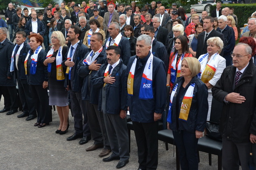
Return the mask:
[[103,29],[105,31],[106,38],[109,37],[109,24],[113,19],[119,20],[119,14],[118,12],[115,12],[115,7],[113,4],[109,4],[108,11],[106,12],[103,18]]

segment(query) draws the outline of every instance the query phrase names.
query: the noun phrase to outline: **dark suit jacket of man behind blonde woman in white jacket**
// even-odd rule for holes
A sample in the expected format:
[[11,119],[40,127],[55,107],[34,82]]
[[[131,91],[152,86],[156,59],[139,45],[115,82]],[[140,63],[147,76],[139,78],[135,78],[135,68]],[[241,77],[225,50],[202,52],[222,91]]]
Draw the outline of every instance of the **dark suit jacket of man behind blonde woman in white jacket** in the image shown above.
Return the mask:
[[[211,37],[220,37],[220,39],[222,39],[222,41],[224,42],[224,35],[222,33],[219,33],[218,31],[216,31],[215,29],[213,29],[211,31],[211,33],[207,36],[207,38],[205,38],[205,31],[203,31],[201,34],[198,35],[198,40],[197,40],[197,50],[196,50],[196,58],[198,58],[199,56],[201,56],[202,54],[206,54],[207,53],[207,39],[211,38]],[[205,38],[205,43],[204,43],[204,38]],[[223,50],[220,53],[221,56],[223,56]]]

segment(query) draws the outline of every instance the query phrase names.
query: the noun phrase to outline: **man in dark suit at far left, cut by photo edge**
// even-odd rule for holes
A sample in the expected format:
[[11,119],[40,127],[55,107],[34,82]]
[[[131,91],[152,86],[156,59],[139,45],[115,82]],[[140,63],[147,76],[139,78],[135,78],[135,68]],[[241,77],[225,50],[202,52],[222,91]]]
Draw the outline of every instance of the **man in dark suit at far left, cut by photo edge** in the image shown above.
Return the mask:
[[0,113],[14,114],[19,107],[18,96],[16,92],[16,79],[11,72],[11,56],[14,44],[7,38],[8,30],[0,27],[0,91],[4,96],[4,109]]

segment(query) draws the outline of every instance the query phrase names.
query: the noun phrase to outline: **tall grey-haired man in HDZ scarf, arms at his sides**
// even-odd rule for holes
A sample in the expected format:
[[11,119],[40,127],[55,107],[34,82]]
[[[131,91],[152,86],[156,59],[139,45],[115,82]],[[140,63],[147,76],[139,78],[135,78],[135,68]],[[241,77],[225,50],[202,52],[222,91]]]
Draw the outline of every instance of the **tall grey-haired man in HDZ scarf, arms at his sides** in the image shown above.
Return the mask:
[[138,37],[136,56],[127,65],[126,82],[139,168],[154,170],[158,166],[158,120],[164,112],[166,74],[164,62],[150,52],[151,40],[149,35]]

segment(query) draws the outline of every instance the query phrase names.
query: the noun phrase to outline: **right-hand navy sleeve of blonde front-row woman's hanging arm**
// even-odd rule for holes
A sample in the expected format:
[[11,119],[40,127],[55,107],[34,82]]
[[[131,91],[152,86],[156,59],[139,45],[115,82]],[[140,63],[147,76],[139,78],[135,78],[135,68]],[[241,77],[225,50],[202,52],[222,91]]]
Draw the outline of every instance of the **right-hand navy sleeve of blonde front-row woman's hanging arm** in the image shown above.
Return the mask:
[[197,115],[196,115],[196,127],[197,131],[203,132],[205,130],[205,124],[208,114],[208,89],[205,83],[201,83],[200,87],[197,87]]

